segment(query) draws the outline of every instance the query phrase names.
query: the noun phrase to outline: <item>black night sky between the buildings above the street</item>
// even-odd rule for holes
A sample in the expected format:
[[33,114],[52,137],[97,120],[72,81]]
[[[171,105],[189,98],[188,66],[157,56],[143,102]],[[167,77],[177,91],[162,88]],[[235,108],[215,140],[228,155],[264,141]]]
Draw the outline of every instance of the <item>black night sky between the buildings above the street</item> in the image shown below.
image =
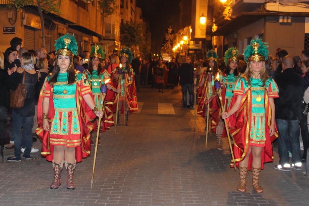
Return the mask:
[[180,0],[137,0],[143,18],[150,23],[152,53],[159,53],[169,24],[175,33],[180,29],[179,3]]

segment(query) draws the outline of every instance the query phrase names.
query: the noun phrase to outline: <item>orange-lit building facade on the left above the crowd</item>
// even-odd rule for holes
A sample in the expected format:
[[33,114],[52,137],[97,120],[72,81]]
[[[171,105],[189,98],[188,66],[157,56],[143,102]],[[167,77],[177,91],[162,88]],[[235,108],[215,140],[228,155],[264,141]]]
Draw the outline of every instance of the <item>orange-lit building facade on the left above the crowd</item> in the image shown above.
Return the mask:
[[[105,18],[98,9],[97,0],[90,3],[83,0],[62,1],[60,9],[61,14],[59,16],[43,13],[47,52],[55,50],[55,40],[66,33],[74,34],[78,42],[79,54],[85,50],[89,51],[91,45],[104,44],[105,32],[109,30],[105,28]],[[0,16],[3,29],[7,27],[15,28],[15,34],[2,32],[0,39],[0,50],[2,52],[10,47],[10,40],[15,36],[23,39],[24,47],[28,49],[36,50],[42,47],[42,29],[36,7],[25,7],[23,11],[16,11],[15,8],[8,10],[6,1],[2,0],[0,1],[0,12],[3,14]],[[119,37],[119,23],[117,26],[118,29],[115,27],[113,32],[116,30]],[[119,42],[119,38],[117,40]]]

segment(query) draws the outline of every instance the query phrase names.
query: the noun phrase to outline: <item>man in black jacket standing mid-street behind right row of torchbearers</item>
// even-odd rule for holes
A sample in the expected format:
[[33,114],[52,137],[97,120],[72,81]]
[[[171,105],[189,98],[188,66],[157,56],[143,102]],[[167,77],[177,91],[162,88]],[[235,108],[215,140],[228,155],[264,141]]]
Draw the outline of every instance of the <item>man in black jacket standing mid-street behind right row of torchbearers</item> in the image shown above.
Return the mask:
[[190,109],[193,108],[193,65],[190,64],[191,57],[186,58],[186,62],[182,63],[178,68],[178,75],[180,77],[180,86],[182,90],[182,108],[187,107],[187,92],[189,92]]

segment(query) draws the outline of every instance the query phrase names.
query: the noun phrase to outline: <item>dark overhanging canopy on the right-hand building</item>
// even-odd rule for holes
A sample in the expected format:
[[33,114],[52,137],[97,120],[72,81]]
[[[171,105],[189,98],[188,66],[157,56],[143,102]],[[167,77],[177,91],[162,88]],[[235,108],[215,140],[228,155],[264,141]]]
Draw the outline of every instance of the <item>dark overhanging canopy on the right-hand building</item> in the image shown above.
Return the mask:
[[242,12],[237,17],[223,24],[212,33],[212,36],[225,36],[231,34],[238,29],[256,22],[266,16],[297,16],[307,17],[309,13],[287,13],[287,12]]

